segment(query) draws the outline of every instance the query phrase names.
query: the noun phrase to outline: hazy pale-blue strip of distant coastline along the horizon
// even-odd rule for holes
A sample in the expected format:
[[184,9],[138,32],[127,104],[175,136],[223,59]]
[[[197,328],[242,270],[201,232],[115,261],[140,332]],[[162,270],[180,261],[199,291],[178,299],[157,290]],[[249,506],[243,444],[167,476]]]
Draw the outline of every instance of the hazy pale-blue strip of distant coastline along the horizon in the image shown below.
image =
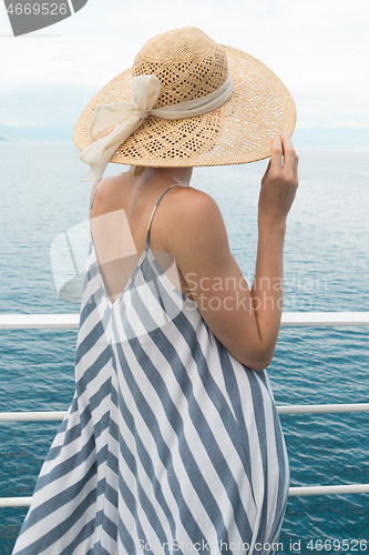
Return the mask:
[[[0,123],[0,142],[73,144],[73,123],[48,125],[6,125]],[[294,132],[294,144],[301,149],[369,150],[367,128],[310,128]]]

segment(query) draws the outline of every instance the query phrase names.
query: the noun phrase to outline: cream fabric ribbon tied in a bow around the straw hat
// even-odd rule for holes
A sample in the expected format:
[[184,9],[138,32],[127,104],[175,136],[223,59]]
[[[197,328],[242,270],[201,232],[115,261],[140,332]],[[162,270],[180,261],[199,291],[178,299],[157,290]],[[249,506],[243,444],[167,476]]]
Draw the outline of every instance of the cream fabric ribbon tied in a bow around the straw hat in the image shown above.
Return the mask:
[[[132,79],[131,101],[96,105],[89,128],[92,139],[109,127],[116,123],[117,125],[79,155],[80,160],[90,164],[88,175],[81,181],[100,181],[114,152],[148,115],[177,120],[202,115],[219,108],[232,94],[230,74],[228,73],[226,81],[218,89],[206,97],[154,109],[160,92],[161,82],[155,75],[137,75]],[[122,122],[123,119],[125,121]]]

